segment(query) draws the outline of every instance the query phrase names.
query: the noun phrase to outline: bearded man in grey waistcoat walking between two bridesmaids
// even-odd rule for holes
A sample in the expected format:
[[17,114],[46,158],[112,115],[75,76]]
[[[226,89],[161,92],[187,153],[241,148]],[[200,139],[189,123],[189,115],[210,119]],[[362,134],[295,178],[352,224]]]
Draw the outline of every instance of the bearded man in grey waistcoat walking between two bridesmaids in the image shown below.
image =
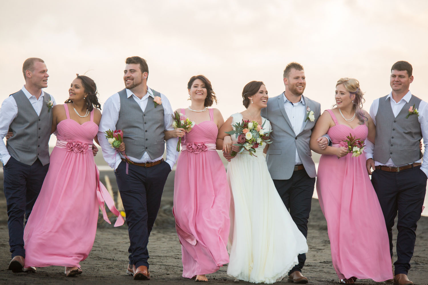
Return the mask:
[[[125,62],[125,89],[105,102],[98,141],[105,161],[115,170],[125,209],[130,241],[126,272],[136,280],[150,279],[147,244],[158,215],[163,186],[178,158],[175,150],[178,139],[166,141],[164,161],[163,131],[173,129],[172,107],[165,95],[147,86],[146,60],[132,56]],[[104,134],[108,129],[122,129],[125,154],[132,164],[110,147]]]

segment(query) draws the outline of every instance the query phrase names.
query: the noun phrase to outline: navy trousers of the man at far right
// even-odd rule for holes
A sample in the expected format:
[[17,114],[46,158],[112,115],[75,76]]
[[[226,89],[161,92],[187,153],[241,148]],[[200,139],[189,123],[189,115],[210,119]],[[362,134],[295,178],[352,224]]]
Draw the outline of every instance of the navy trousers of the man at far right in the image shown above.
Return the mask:
[[416,226],[421,217],[425,199],[427,176],[420,166],[399,172],[375,170],[372,174],[372,184],[385,218],[391,257],[392,227],[398,212],[398,259],[394,262],[394,274],[407,275],[415,248]]

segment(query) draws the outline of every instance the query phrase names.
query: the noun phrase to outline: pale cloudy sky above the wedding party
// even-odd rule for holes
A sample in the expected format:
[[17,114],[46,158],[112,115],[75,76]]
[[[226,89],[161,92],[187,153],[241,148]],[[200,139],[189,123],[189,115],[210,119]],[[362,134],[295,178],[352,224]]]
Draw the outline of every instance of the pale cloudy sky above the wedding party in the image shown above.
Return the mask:
[[428,100],[427,16],[428,1],[415,0],[4,1],[0,100],[24,85],[24,60],[39,57],[58,103],[76,73],[95,80],[104,103],[124,88],[128,56],[147,60],[149,87],[173,109],[190,105],[191,76],[207,76],[225,119],[244,110],[241,93],[251,80],[265,82],[270,97],[284,91],[289,62],[303,65],[304,95],[322,110],[333,105],[341,77],[360,81],[369,109],[390,92],[398,60],[413,65],[410,90]]

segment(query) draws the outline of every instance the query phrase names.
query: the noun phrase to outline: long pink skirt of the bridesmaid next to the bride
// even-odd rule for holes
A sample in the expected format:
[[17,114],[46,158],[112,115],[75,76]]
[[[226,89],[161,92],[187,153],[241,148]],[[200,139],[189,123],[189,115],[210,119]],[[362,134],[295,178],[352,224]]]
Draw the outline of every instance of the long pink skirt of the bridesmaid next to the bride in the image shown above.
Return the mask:
[[226,170],[217,151],[182,151],[175,171],[173,213],[183,277],[213,273],[229,262],[229,205]]

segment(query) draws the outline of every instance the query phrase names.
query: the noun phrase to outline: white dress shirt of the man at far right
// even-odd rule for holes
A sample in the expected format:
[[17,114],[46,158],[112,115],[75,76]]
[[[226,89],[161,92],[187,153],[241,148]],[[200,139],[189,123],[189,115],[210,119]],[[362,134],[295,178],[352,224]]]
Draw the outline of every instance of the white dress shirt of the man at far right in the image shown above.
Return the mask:
[[[394,116],[397,117],[398,113],[403,109],[404,105],[410,101],[410,98],[412,97],[412,93],[409,91],[406,95],[397,103],[394,99],[392,99],[392,92],[389,93],[388,97],[386,97],[386,100],[389,100],[391,103],[392,112],[394,113]],[[377,98],[375,101],[373,101],[372,106],[370,106],[370,116],[373,119],[373,122],[376,125],[376,114],[377,109],[379,108],[379,100],[381,98]],[[418,108],[419,116],[418,120],[421,124],[421,131],[422,131],[422,138],[424,140],[424,147],[425,147],[425,153],[423,157],[423,163],[421,166],[421,170],[425,172],[425,174],[428,176],[428,103],[425,101],[421,101]],[[366,140],[366,147],[364,148],[364,151],[366,153],[366,159],[372,159],[373,158],[373,150],[374,150],[374,144],[372,144],[371,141]],[[422,162],[422,159],[419,159],[416,162]],[[410,163],[411,164],[411,163]],[[395,165],[391,158],[388,159],[388,161],[385,164],[382,164],[380,162],[375,161],[375,166],[377,165],[385,165],[388,167],[400,167],[404,165]]]

